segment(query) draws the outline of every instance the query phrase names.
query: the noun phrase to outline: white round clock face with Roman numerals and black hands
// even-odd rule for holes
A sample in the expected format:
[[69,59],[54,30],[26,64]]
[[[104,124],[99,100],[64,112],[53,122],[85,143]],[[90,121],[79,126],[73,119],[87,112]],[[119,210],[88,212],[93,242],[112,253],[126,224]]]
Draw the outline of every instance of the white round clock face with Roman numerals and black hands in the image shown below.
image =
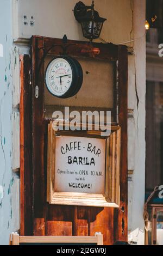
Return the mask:
[[71,63],[65,58],[53,59],[47,67],[45,81],[51,94],[58,97],[66,95],[73,82]]

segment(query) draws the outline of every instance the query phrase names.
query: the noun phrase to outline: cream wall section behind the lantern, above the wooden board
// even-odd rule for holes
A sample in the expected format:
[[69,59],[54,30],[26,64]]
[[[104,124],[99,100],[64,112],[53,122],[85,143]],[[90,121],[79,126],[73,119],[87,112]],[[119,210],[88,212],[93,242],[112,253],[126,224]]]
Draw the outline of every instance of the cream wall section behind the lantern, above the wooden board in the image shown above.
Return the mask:
[[[31,35],[85,40],[79,23],[73,15],[78,0],[14,0],[14,37],[30,38]],[[91,5],[91,0],[83,0]],[[132,12],[130,0],[95,0],[95,9],[107,21],[101,37],[113,43],[130,39]],[[27,16],[27,19],[24,19]],[[33,20],[31,17],[33,16]],[[30,26],[30,21],[34,26]],[[27,25],[24,25],[27,22]]]

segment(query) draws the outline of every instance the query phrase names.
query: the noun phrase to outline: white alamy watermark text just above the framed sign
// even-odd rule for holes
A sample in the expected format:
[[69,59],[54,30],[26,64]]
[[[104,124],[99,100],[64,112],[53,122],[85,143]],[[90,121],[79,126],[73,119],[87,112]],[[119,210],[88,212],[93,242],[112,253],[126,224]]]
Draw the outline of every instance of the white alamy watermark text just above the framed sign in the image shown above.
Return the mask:
[[[65,113],[61,111],[53,112],[55,131],[101,131],[101,136],[109,136],[111,132],[111,112],[110,111],[72,111],[65,107]],[[64,125],[66,124],[66,126]],[[81,124],[81,125],[78,125]]]

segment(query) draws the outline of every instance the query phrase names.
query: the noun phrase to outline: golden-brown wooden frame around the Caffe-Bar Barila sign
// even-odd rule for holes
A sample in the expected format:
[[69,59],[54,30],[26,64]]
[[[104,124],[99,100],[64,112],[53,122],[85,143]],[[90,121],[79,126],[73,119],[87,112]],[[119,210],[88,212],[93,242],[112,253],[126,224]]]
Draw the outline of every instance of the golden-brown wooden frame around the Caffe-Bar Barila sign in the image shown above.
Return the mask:
[[[77,124],[81,126],[81,124]],[[101,131],[57,131],[53,122],[48,124],[48,170],[47,201],[49,204],[83,205],[118,208],[120,205],[120,144],[121,128],[108,126],[111,133],[101,137]],[[106,140],[105,152],[105,193],[55,192],[55,138],[56,136],[76,136],[101,138]]]

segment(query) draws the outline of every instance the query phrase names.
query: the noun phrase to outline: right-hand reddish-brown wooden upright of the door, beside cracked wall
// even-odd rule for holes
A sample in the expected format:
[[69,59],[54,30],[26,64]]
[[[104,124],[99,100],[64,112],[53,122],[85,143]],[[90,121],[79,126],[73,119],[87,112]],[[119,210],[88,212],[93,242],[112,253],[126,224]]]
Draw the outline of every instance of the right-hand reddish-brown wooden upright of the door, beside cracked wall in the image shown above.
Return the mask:
[[121,126],[120,208],[115,209],[115,240],[128,240],[128,182],[127,182],[127,110],[128,110],[128,54],[126,46],[119,46],[118,57],[118,124]]

